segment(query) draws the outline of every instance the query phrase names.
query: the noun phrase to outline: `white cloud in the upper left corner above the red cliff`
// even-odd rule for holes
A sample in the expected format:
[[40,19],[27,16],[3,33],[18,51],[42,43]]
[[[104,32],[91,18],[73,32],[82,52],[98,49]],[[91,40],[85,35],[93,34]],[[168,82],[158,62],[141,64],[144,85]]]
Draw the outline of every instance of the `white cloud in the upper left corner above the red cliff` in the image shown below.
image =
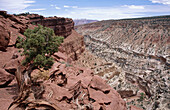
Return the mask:
[[26,12],[26,8],[35,3],[34,0],[0,0],[0,10],[6,10],[9,13]]

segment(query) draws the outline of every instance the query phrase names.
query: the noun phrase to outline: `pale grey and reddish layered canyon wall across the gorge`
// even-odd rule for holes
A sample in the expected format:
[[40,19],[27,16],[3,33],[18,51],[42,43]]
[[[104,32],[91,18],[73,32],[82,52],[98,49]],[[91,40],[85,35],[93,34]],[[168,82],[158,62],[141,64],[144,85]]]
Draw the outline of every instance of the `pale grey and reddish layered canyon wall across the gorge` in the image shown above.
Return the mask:
[[109,71],[98,74],[122,97],[131,97],[126,98],[128,104],[144,109],[170,108],[170,16],[101,21],[77,26],[76,31],[84,35],[92,53],[123,69],[115,74],[108,67]]

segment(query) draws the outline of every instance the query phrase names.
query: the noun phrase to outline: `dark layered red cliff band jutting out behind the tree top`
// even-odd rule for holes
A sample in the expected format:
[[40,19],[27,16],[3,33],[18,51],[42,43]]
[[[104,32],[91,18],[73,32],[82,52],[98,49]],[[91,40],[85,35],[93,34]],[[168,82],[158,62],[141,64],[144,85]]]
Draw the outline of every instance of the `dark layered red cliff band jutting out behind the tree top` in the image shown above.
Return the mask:
[[45,27],[50,27],[54,30],[58,36],[64,36],[65,38],[72,33],[74,29],[74,22],[69,18],[61,17],[48,17],[45,18],[40,15],[32,14],[28,15],[32,24],[41,24]]

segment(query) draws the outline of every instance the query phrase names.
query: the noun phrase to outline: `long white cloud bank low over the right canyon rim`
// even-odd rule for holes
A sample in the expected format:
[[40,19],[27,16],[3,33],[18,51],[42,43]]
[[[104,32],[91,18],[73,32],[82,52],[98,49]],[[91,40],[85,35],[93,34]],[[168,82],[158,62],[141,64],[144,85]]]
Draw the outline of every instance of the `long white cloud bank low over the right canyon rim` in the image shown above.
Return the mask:
[[122,19],[136,18],[144,16],[158,16],[170,13],[170,7],[164,5],[126,5],[120,7],[84,7],[77,9],[69,9],[65,13],[57,14],[61,17],[69,17],[73,19]]

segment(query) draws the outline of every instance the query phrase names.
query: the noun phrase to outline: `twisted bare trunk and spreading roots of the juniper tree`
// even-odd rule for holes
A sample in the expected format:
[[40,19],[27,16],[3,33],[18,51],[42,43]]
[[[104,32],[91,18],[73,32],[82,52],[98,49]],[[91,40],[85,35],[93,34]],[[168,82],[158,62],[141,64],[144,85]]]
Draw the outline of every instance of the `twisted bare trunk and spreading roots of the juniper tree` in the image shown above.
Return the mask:
[[[60,110],[56,105],[51,104],[47,101],[36,99],[34,90],[32,90],[33,83],[31,81],[31,72],[33,71],[33,65],[31,65],[27,70],[22,71],[21,66],[18,67],[17,72],[15,74],[18,87],[19,87],[19,95],[17,99],[15,99],[8,110],[32,110],[37,109],[38,107],[45,107],[44,110]],[[42,85],[43,86],[43,85]],[[43,88],[44,89],[44,88]],[[43,92],[44,90],[39,90],[38,92]],[[41,94],[40,93],[40,94]]]

